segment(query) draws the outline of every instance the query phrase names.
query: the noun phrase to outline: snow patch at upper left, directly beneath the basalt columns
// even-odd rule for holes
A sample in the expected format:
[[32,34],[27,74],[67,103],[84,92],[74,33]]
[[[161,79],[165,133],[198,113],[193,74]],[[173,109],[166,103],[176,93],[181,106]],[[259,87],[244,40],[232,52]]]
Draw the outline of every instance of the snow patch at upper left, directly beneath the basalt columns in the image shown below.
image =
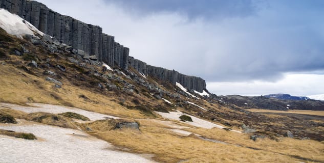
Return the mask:
[[0,9],[0,27],[4,29],[8,34],[23,38],[24,35],[44,35],[28,21],[19,17],[18,15],[12,14],[5,9]]

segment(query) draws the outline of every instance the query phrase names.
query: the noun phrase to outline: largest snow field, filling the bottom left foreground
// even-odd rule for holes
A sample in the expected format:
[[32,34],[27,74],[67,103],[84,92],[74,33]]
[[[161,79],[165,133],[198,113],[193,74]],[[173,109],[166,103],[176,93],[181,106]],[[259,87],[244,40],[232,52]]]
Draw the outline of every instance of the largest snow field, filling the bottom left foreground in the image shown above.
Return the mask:
[[79,130],[20,120],[0,129],[33,133],[38,140],[0,135],[0,162],[154,162],[141,155],[116,151],[114,146]]

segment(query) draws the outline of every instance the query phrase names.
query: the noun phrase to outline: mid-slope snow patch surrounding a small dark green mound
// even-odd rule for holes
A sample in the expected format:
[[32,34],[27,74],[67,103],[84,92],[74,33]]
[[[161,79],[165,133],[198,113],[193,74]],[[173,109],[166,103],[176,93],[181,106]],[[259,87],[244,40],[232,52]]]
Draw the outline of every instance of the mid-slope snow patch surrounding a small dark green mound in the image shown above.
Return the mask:
[[[184,114],[184,113],[182,113],[180,111],[177,111],[177,112],[169,112],[169,113],[162,113],[162,112],[155,112],[155,113],[161,115],[165,119],[178,120],[178,121],[180,121],[180,118],[179,117],[181,115],[187,115],[187,114]],[[210,129],[210,128],[213,128],[213,127],[226,128],[224,126],[221,126],[221,125],[218,125],[218,124],[214,124],[214,123],[205,121],[203,119],[200,119],[200,118],[197,118],[197,117],[194,117],[194,116],[191,116],[191,115],[187,115],[187,116],[191,117],[191,119],[192,119],[193,122],[183,122],[183,123],[189,124],[191,126],[196,126],[196,127],[201,127],[201,128],[207,128],[207,129]],[[182,122],[182,121],[180,121],[180,122]],[[236,130],[231,130],[231,131],[241,132],[241,131],[236,131]]]

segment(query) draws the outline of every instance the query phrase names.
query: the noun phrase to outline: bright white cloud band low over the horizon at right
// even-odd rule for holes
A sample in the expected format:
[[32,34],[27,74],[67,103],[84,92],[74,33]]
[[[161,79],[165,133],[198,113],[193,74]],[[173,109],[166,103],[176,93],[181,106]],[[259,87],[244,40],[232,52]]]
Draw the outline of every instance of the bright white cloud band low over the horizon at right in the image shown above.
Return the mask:
[[252,82],[212,82],[207,89],[217,95],[261,96],[274,93],[287,93],[296,96],[324,94],[324,75],[285,74],[277,82],[255,80]]

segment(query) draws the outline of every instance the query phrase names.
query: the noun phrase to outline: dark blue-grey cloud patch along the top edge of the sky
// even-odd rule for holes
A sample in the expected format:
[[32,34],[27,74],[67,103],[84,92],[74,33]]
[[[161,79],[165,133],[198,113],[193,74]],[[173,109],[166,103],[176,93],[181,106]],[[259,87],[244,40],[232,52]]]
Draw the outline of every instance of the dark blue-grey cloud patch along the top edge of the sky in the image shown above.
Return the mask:
[[129,13],[140,15],[177,12],[190,19],[245,17],[255,13],[256,6],[251,0],[105,0],[114,3]]

